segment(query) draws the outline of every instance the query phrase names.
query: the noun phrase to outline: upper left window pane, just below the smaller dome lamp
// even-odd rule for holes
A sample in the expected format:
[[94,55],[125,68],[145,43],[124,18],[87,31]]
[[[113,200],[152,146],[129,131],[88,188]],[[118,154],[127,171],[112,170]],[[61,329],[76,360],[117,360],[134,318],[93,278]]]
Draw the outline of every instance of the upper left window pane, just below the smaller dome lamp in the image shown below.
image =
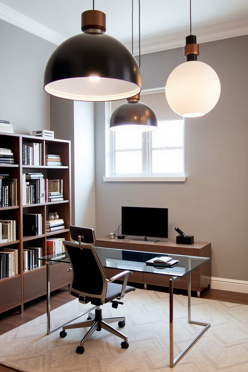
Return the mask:
[[115,132],[115,148],[116,150],[131,150],[142,147],[141,132],[125,130]]

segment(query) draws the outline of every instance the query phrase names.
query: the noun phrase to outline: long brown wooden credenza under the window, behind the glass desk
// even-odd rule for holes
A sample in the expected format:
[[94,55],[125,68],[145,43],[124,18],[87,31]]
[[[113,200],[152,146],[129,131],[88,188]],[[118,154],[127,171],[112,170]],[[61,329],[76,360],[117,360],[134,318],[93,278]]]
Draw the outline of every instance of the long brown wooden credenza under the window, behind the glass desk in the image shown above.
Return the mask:
[[[211,243],[194,243],[191,245],[176,244],[174,240],[157,241],[156,243],[141,243],[131,242],[132,237],[124,239],[109,239],[109,237],[97,238],[96,247],[106,247],[115,249],[135,250],[165,254],[180,254],[185,256],[210,257],[211,258]],[[121,270],[120,270],[121,271]],[[106,270],[108,278],[116,274],[115,269]],[[131,280],[136,283],[144,283],[151,285],[169,286],[170,276],[156,275],[152,273],[133,273]],[[211,260],[195,269],[191,273],[191,290],[197,291],[197,295],[206,288],[210,288],[211,282]],[[179,281],[174,283],[174,288],[187,289],[188,276],[184,276]]]

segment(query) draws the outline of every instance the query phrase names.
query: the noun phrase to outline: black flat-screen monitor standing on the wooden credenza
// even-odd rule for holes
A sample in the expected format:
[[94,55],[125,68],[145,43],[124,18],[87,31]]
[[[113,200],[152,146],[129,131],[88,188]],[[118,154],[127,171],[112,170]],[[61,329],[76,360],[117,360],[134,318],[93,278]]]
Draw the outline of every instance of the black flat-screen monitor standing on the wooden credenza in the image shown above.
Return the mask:
[[122,235],[136,235],[131,241],[155,243],[168,238],[168,208],[146,208],[122,206]]

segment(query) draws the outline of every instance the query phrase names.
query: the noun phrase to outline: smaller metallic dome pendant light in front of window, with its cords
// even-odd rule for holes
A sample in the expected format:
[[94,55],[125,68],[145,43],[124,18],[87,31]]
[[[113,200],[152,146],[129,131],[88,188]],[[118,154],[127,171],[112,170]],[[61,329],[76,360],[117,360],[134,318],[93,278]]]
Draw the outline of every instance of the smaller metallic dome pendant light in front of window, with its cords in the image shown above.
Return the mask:
[[[133,0],[132,0],[132,26],[133,26]],[[132,27],[133,51],[133,27]],[[139,0],[139,65],[140,65],[140,0]],[[140,66],[139,66],[140,67]],[[140,132],[151,132],[158,129],[158,119],[154,111],[145,103],[139,102],[140,94],[127,98],[115,109],[110,117],[110,131],[134,129]]]

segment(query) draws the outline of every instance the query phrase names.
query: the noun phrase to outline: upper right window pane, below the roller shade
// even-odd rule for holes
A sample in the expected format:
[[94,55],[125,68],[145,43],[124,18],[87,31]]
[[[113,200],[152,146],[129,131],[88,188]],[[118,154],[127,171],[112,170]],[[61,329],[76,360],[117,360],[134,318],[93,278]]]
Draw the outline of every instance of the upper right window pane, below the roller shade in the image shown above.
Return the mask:
[[152,132],[152,148],[183,147],[183,120],[160,121]]

